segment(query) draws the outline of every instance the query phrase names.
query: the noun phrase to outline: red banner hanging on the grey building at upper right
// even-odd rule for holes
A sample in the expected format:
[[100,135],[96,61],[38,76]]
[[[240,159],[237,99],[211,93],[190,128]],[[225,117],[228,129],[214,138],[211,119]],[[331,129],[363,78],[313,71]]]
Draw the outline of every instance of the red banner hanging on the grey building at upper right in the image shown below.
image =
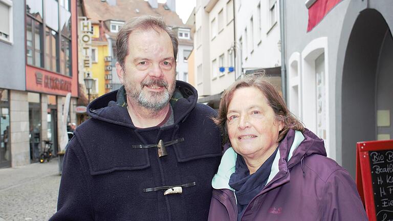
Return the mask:
[[307,27],[307,32],[313,30],[313,28],[320,23],[325,15],[341,1],[342,0],[317,0],[309,8],[309,25]]

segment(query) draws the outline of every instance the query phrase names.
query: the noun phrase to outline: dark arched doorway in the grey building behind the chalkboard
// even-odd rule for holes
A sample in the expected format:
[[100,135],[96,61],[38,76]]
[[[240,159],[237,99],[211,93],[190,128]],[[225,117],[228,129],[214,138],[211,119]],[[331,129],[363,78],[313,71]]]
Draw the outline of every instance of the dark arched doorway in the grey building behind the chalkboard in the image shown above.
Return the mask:
[[[377,10],[360,12],[352,28],[342,73],[342,166],[355,175],[356,142],[393,139],[391,123],[380,126],[393,110],[393,39]],[[383,117],[383,119],[381,119]]]

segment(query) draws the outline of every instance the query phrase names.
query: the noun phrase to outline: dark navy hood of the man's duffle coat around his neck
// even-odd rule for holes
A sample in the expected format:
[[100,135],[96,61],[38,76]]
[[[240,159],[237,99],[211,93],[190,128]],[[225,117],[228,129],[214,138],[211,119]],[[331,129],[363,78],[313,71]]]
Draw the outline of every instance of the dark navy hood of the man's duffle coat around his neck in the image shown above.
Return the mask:
[[[176,81],[176,89],[170,100],[174,124],[184,121],[198,100],[197,90],[183,81]],[[97,120],[135,128],[127,111],[124,86],[93,100],[87,108],[88,115]]]

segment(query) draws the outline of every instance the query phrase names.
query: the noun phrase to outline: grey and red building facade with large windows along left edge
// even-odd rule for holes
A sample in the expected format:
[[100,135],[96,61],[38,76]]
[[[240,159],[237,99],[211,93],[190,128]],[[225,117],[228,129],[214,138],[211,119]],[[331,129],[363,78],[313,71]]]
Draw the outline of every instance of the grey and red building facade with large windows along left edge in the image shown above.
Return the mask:
[[[0,167],[14,167],[37,162],[45,141],[59,150],[65,95],[71,93],[71,107],[78,97],[76,3],[2,0],[0,10],[9,21],[0,36],[7,54],[0,63],[8,67],[0,74]],[[68,121],[75,120],[70,108]]]

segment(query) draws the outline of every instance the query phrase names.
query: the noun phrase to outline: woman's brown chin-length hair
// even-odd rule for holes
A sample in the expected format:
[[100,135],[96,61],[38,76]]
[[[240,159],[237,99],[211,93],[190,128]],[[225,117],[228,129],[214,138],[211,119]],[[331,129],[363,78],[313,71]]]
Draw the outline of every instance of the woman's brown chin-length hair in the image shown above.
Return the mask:
[[255,87],[259,89],[267,98],[267,102],[272,107],[276,120],[283,122],[283,128],[278,133],[278,142],[287,135],[289,129],[304,131],[303,124],[288,110],[284,100],[274,88],[274,86],[263,76],[262,73],[246,75],[244,78],[235,81],[223,93],[221,97],[219,115],[213,118],[214,123],[220,127],[224,143],[229,142],[227,130],[228,106],[232,100],[233,93],[241,87]]

